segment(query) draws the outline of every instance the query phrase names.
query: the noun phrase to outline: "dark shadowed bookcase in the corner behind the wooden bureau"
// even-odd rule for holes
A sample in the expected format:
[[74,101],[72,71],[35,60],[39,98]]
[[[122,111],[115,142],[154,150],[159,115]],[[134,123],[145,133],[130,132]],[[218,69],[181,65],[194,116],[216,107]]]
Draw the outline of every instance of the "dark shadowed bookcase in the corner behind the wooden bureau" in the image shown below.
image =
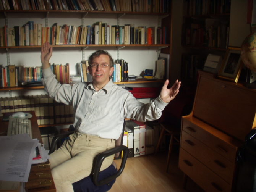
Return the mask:
[[182,63],[183,86],[196,89],[198,70],[202,70],[209,53],[224,56],[228,47],[229,0],[202,1],[183,0]]

